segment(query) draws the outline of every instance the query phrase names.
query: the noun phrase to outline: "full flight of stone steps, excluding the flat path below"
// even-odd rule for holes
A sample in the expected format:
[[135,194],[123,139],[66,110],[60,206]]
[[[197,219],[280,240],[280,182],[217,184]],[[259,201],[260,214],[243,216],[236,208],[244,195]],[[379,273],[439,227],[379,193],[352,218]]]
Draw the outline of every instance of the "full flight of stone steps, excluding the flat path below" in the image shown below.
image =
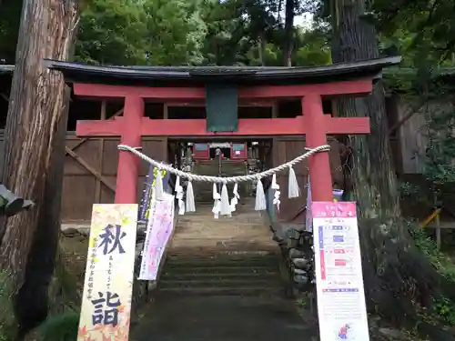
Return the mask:
[[279,246],[254,201],[232,217],[214,219],[212,206],[179,217],[157,284],[157,295],[279,296]]

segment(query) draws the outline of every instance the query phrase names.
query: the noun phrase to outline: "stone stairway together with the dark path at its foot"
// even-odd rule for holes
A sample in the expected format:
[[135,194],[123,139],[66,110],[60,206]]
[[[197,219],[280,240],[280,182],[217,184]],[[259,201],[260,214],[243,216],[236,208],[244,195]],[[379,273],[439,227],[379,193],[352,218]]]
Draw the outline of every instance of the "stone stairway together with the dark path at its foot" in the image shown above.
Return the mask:
[[[216,220],[211,205],[180,216],[157,288],[131,339],[310,341],[295,300],[284,295],[280,251],[254,202]],[[243,204],[243,205],[242,205]]]

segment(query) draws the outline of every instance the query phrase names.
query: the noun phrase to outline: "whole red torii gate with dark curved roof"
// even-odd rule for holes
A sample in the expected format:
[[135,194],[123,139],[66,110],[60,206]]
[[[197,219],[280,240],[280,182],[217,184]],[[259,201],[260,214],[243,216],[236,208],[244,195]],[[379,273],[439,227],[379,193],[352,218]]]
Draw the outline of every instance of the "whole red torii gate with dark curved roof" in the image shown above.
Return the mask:
[[[161,100],[163,102],[183,101],[186,103],[204,101],[206,91],[204,85],[187,86],[137,86],[131,84],[131,78],[140,75],[144,79],[147,69],[125,67],[88,66],[65,62],[48,61],[49,67],[62,71],[67,80],[72,83],[74,94],[89,97],[124,98],[124,115],[109,121],[79,121],[76,126],[78,136],[121,136],[122,145],[139,147],[143,135],[154,136],[268,136],[268,135],[306,135],[306,145],[316,147],[327,145],[327,135],[356,135],[369,134],[369,118],[341,118],[325,115],[322,109],[322,96],[333,95],[368,95],[372,89],[373,78],[382,67],[399,63],[399,57],[382,58],[349,65],[329,65],[319,67],[324,76],[335,74],[339,70],[345,73],[344,79],[329,83],[300,84],[300,85],[247,85],[238,86],[239,100],[250,102],[270,101],[279,98],[301,98],[302,115],[295,118],[254,118],[238,119],[238,131],[212,133],[207,132],[205,119],[150,119],[145,114],[145,99]],[[150,78],[167,77],[167,70],[172,68],[157,68],[149,71]],[[249,68],[251,69],[251,68]],[[177,70],[177,71],[176,71]],[[181,68],[172,69],[174,78]],[[267,68],[263,68],[267,70]],[[273,68],[269,75],[297,75],[298,72],[308,74],[318,72],[318,68]],[[275,72],[275,74],[274,74]],[[350,74],[349,74],[350,72]],[[105,78],[90,84],[86,79],[96,78],[96,73]],[[182,77],[187,77],[187,71],[181,71]],[[353,76],[353,74],[355,74]],[[129,80],[128,85],[106,85],[106,75]],[[217,74],[222,75],[222,74]],[[129,78],[128,78],[129,77]],[[128,78],[128,79],[126,79]],[[352,79],[354,78],[354,79]],[[82,81],[81,81],[82,80]],[[186,78],[187,80],[187,78]],[[316,78],[316,82],[320,78]],[[104,84],[103,84],[104,83]],[[303,151],[302,151],[303,152]],[[332,181],[329,167],[329,152],[320,152],[308,159],[309,176],[311,179],[311,196],[314,201],[332,200]],[[136,155],[120,151],[116,177],[116,204],[136,203],[137,180],[139,176],[139,160]]]

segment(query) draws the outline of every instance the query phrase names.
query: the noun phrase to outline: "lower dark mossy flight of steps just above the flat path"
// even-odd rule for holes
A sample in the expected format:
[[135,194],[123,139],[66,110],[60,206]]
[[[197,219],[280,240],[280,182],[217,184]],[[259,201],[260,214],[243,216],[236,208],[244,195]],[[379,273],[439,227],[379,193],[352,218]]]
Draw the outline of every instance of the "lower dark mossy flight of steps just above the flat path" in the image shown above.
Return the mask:
[[278,258],[270,252],[167,256],[157,291],[182,296],[277,296]]

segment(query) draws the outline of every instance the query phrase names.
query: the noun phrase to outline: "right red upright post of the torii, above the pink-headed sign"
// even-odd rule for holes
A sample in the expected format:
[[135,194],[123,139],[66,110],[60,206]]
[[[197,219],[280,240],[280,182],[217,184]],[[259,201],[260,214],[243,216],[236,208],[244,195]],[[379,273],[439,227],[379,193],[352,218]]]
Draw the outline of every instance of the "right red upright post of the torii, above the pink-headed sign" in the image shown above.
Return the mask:
[[[302,98],[303,115],[308,126],[306,145],[314,148],[327,145],[327,135],[322,99],[320,95],[308,94]],[[311,200],[332,201],[332,175],[330,173],[329,152],[319,152],[308,158]]]

